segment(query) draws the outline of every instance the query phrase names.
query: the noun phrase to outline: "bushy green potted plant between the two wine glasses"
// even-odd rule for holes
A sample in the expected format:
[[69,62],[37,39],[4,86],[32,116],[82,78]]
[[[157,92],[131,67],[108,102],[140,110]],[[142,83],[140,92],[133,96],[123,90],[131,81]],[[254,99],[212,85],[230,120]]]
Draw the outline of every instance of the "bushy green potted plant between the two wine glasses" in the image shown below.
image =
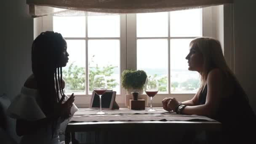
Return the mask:
[[121,85],[127,91],[132,90],[134,100],[138,100],[139,91],[143,91],[147,74],[143,70],[124,70],[121,75]]

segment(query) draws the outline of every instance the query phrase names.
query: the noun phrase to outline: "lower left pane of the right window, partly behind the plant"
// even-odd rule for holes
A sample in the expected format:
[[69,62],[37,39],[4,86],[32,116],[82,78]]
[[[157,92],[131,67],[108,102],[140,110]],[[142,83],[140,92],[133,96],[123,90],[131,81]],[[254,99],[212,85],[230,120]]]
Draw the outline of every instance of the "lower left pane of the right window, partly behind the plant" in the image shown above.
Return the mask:
[[137,69],[157,77],[159,93],[168,92],[168,40],[137,40]]

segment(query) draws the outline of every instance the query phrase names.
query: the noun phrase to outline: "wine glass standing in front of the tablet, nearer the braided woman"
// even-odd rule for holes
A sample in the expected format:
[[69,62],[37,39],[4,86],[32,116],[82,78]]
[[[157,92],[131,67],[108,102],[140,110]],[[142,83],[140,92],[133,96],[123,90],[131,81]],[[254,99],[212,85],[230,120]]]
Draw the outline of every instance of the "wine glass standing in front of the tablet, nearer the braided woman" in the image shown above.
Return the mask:
[[101,96],[107,91],[107,79],[105,75],[95,75],[93,79],[93,90],[94,92],[99,95],[99,106],[100,111],[97,112],[97,115],[106,114],[105,112],[101,111]]

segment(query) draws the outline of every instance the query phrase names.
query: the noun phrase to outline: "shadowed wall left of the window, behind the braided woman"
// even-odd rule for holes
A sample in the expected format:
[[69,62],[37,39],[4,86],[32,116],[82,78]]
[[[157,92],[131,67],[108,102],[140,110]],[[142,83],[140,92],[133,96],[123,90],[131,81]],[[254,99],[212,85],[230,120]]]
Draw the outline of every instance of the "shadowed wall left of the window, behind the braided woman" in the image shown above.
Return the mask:
[[7,96],[13,99],[31,74],[33,19],[29,15],[26,0],[4,1],[6,5],[3,5],[3,11],[7,16],[3,19],[4,32],[0,34],[4,41],[4,48],[1,49],[1,53],[4,54],[4,89]]

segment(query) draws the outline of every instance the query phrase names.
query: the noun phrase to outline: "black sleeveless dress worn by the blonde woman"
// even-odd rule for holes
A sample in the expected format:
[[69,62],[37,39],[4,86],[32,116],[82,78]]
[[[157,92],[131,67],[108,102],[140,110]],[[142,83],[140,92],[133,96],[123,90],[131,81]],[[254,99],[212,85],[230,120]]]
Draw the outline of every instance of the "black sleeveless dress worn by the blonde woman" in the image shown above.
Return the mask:
[[[206,95],[207,85],[200,93],[200,105],[205,104]],[[218,132],[221,143],[256,144],[256,115],[240,86],[235,87],[232,96],[221,98],[217,113],[211,118],[222,124],[222,130]]]

